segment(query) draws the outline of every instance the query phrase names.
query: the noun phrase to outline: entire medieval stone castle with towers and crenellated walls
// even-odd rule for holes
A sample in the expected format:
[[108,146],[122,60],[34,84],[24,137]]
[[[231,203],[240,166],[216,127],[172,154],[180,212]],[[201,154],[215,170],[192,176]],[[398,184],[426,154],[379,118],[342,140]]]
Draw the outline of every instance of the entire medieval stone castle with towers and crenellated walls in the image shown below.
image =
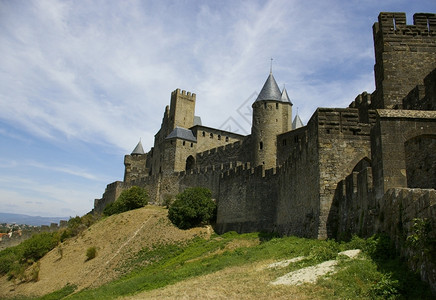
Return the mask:
[[[124,158],[122,182],[94,211],[138,185],[158,204],[209,188],[216,230],[328,238],[386,231],[413,218],[436,228],[436,14],[380,13],[373,26],[375,85],[348,108],[318,108],[306,126],[272,73],[252,104],[251,134],[201,125],[196,95],[171,93],[154,147]],[[401,224],[401,226],[394,226]]]

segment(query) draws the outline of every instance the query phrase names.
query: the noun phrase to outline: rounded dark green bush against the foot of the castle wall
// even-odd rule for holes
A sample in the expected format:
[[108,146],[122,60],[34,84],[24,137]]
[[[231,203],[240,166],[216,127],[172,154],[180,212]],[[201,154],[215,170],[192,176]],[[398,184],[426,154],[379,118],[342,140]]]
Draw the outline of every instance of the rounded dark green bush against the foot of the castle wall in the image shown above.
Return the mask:
[[176,196],[168,210],[168,218],[180,229],[208,224],[216,217],[216,204],[207,188],[188,188]]

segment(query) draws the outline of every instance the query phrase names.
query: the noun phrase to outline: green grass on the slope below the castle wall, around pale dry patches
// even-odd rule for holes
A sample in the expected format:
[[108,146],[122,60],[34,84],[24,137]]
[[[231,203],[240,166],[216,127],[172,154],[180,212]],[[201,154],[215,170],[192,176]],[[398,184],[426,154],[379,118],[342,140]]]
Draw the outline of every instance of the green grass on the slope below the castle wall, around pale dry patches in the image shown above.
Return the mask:
[[[238,241],[247,240],[260,243],[235,249],[226,247],[229,243],[237,244]],[[125,262],[122,269],[129,270],[129,273],[116,281],[76,294],[72,294],[74,288],[66,287],[56,292],[58,294],[50,295],[57,295],[57,298],[54,297],[56,299],[114,299],[161,288],[227,267],[268,259],[306,256],[305,260],[289,266],[286,270],[271,270],[286,273],[295,268],[335,259],[340,251],[361,248],[364,251],[363,258],[342,259],[341,271],[319,280],[316,285],[303,285],[301,290],[307,291],[309,295],[316,292],[323,299],[431,299],[428,286],[416,274],[407,270],[391,246],[388,240],[380,237],[368,240],[354,238],[348,243],[338,243],[230,232],[221,236],[214,235],[210,240],[195,238],[184,244],[155,245],[152,249],[143,249]],[[54,299],[50,295],[41,299]]]

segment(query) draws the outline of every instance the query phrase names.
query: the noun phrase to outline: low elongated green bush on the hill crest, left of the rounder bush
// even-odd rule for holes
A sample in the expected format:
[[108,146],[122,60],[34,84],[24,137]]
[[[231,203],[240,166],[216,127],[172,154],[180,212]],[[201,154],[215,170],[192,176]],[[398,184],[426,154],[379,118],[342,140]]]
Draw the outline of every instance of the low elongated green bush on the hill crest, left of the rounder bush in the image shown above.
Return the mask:
[[103,214],[110,216],[140,208],[148,204],[148,199],[149,197],[146,190],[138,186],[133,186],[123,191],[115,202],[108,204]]

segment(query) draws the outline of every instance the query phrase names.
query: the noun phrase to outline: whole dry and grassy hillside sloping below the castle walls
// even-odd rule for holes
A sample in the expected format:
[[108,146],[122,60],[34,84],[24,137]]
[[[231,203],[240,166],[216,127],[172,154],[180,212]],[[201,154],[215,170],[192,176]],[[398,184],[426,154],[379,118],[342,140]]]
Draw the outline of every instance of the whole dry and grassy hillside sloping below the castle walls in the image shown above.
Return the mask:
[[[86,261],[92,246],[97,256]],[[155,206],[105,218],[59,249],[41,259],[38,282],[0,278],[0,298],[432,299],[385,238],[179,230]]]

